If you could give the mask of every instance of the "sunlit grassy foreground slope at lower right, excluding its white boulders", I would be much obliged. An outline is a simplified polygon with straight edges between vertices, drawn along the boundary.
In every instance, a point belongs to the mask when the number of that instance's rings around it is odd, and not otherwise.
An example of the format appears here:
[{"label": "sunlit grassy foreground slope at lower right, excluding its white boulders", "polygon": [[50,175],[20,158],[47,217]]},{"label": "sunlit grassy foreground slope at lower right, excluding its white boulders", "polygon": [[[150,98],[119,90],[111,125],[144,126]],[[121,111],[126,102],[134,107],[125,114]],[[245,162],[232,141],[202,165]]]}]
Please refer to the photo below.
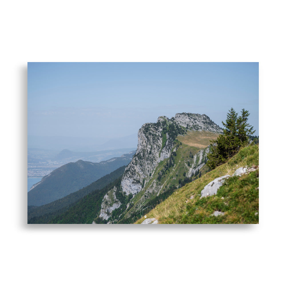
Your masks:
[{"label": "sunlit grassy foreground slope at lower right, excluding its white boulders", "polygon": [[[258,223],[259,217],[255,215],[259,212],[258,170],[231,178],[216,196],[200,199],[201,190],[210,181],[232,175],[239,167],[258,164],[259,146],[243,148],[227,163],[176,190],[146,215],[158,219],[159,223]],[[215,210],[223,211],[225,215],[211,216]],[[136,223],[143,220],[144,217]]]}]

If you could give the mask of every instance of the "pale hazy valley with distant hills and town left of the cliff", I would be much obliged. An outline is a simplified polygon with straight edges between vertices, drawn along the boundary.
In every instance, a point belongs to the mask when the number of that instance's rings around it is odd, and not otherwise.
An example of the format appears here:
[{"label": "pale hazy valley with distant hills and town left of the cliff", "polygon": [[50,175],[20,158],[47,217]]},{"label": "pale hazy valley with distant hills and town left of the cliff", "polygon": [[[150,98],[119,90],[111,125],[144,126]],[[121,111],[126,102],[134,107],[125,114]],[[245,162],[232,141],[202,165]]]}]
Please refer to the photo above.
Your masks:
[{"label": "pale hazy valley with distant hills and town left of the cliff", "polygon": [[28,143],[27,175],[41,178],[69,162],[101,162],[120,157],[136,150],[137,140],[137,134],[119,138],[32,136]]}]

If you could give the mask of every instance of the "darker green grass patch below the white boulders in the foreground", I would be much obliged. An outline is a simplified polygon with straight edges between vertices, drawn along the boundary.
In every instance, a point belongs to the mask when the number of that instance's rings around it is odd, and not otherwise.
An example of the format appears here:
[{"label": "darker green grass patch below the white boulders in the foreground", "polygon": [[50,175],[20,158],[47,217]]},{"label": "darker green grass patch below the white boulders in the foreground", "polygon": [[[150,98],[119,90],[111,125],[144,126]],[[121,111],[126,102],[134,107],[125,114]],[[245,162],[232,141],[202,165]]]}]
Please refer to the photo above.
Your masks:
[{"label": "darker green grass patch below the white boulders in the foreground", "polygon": [[[258,223],[259,171],[226,180],[216,196],[197,199],[186,205],[178,223]],[[224,215],[212,216],[215,211]]]}]

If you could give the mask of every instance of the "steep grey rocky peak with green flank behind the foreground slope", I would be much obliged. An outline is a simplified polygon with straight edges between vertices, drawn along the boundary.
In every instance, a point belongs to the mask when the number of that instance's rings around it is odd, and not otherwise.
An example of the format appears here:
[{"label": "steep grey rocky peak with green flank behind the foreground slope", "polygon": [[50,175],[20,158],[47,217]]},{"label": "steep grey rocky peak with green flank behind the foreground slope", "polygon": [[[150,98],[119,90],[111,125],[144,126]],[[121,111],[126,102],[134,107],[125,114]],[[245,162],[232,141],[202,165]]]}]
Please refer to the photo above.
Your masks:
[{"label": "steep grey rocky peak with green flank behind the foreground slope", "polygon": [[[205,114],[191,113],[176,114],[171,119],[160,116],[156,123],[144,124],[138,131],[136,154],[126,167],[121,189],[110,190],[103,199],[100,220],[131,223],[143,208],[156,205],[180,185],[200,176],[199,170],[204,168],[209,152],[206,145],[209,140],[196,137],[199,143],[196,146],[187,137],[187,144],[182,143],[182,138],[194,132],[204,138],[210,136],[210,140],[222,133],[222,129]],[[203,172],[206,171],[205,168]],[[121,204],[109,201],[115,200],[115,192],[122,194]]]}]

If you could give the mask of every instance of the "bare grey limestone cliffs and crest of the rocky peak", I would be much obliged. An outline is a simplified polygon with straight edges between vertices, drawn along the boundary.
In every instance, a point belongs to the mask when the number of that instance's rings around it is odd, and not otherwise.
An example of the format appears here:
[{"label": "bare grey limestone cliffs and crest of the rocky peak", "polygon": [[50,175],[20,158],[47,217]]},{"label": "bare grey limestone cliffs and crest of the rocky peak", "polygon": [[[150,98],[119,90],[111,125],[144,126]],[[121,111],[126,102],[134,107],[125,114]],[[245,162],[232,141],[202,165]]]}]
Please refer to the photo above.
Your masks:
[{"label": "bare grey limestone cliffs and crest of the rocky peak", "polygon": [[[157,164],[169,158],[174,147],[174,139],[188,130],[206,130],[222,133],[222,129],[205,114],[177,113],[168,119],[160,116],[156,123],[146,123],[138,131],[138,147],[132,161],[126,167],[122,178],[122,191],[136,194],[142,189],[142,182],[150,176]],[[194,164],[188,175],[194,174],[203,160],[207,150],[201,150],[194,157]]]}]

